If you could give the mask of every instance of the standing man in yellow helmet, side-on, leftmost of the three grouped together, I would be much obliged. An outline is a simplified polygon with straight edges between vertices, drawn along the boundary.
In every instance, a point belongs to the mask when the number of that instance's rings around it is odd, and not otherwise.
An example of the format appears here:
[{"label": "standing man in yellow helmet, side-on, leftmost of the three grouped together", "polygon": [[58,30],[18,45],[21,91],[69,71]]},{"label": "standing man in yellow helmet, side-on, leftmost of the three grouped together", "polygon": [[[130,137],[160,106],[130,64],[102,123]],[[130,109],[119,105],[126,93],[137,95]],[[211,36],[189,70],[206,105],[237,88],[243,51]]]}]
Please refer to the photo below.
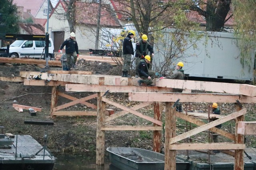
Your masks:
[{"label": "standing man in yellow helmet, side-on, leftmost of the three grouped together", "polygon": [[123,68],[122,68],[122,77],[132,77],[128,74],[128,71],[130,70],[131,67],[131,61],[132,61],[132,56],[134,55],[134,50],[132,46],[132,38],[135,35],[135,31],[130,30],[128,31],[127,37],[124,38],[123,42],[123,57],[124,57],[124,63],[123,63]]}]

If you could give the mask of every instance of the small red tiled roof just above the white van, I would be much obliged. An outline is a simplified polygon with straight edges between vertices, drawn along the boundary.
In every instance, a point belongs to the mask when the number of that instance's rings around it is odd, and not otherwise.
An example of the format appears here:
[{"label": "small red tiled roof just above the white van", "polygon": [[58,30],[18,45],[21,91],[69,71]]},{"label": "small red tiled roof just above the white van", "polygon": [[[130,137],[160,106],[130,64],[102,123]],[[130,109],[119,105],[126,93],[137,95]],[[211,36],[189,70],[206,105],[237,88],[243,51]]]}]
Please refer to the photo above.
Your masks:
[{"label": "small red tiled roof just above the white van", "polygon": [[24,29],[27,34],[44,35],[44,27],[41,24],[35,23],[19,23],[20,27]]}]

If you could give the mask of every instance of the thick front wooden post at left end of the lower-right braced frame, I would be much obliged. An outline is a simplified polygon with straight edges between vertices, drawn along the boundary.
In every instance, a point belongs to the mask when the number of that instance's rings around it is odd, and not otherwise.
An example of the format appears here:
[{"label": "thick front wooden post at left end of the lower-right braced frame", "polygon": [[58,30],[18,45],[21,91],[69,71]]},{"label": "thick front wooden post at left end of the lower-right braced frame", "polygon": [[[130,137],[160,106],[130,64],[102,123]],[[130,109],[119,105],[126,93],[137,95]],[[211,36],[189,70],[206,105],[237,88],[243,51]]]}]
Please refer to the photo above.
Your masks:
[{"label": "thick front wooden post at left end of the lower-right braced frame", "polygon": [[170,150],[170,139],[176,136],[175,109],[172,109],[174,102],[166,102],[165,106],[165,165],[164,170],[176,170],[176,150]]}]

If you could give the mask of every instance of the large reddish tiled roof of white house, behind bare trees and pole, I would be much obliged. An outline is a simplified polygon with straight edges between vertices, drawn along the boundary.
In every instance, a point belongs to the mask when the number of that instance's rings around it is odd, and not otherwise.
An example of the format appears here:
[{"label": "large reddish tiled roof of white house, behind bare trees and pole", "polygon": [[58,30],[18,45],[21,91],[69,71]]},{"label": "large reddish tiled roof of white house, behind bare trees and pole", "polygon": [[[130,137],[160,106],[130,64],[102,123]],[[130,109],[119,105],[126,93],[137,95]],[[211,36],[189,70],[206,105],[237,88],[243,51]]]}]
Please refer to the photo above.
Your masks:
[{"label": "large reddish tiled roof of white house, behind bare trees and pole", "polygon": [[[85,25],[97,25],[97,13],[99,4],[97,3],[76,3],[76,22]],[[110,5],[102,6],[100,25],[103,27],[121,27],[116,15],[111,14]]]}]

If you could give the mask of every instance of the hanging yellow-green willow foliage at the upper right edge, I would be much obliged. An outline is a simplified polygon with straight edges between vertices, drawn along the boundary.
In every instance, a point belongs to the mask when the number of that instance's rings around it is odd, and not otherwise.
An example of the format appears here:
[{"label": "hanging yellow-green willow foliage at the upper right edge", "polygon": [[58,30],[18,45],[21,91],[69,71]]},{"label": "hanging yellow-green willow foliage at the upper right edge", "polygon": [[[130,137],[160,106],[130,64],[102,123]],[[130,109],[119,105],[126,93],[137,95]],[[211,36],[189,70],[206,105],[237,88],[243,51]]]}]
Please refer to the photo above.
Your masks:
[{"label": "hanging yellow-green willow foliage at the upper right edge", "polygon": [[255,0],[233,0],[235,27],[234,33],[238,38],[238,46],[241,49],[240,62],[242,66],[250,68],[252,64],[252,51],[256,47],[256,1]]}]

